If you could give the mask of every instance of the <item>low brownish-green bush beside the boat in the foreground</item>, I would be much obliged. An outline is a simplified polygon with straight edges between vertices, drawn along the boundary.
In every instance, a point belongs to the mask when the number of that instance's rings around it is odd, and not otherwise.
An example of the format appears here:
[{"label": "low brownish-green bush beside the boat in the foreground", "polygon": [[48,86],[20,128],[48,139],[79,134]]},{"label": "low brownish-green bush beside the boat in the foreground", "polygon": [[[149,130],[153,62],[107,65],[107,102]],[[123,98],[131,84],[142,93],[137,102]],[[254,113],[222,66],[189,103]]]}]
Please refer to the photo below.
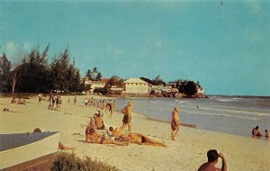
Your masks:
[{"label": "low brownish-green bush beside the boat in the foreground", "polygon": [[98,161],[96,159],[93,160],[91,157],[81,159],[80,157],[76,157],[75,154],[65,152],[58,153],[51,170],[119,171],[119,169],[115,166],[109,166],[107,163]]}]

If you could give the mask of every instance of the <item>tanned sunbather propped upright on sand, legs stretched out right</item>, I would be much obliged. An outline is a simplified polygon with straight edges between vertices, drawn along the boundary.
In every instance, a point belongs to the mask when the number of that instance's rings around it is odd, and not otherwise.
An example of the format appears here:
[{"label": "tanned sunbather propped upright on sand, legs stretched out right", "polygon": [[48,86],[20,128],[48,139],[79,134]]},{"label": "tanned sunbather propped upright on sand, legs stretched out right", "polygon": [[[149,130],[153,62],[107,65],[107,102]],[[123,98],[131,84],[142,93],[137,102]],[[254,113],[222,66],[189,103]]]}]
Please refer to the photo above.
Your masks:
[{"label": "tanned sunbather propped upright on sand, legs stretched out right", "polygon": [[117,146],[128,146],[129,142],[117,142],[101,136],[94,128],[89,125],[85,130],[85,142],[96,144],[115,144]]}]

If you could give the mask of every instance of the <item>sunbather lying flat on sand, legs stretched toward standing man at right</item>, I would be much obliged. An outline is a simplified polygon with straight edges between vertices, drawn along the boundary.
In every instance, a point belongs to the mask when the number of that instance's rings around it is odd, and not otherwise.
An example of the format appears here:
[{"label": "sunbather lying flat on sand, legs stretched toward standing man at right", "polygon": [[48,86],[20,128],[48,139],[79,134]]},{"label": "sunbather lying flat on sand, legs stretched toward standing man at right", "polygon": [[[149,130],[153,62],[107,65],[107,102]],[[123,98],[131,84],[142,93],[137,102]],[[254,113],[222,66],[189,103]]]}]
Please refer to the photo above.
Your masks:
[{"label": "sunbather lying flat on sand, legs stretched toward standing man at right", "polygon": [[125,137],[124,140],[130,143],[138,144],[138,145],[151,145],[151,146],[166,147],[164,143],[157,140],[150,139],[148,138],[148,136],[143,135],[141,133],[129,133],[129,136]]}]

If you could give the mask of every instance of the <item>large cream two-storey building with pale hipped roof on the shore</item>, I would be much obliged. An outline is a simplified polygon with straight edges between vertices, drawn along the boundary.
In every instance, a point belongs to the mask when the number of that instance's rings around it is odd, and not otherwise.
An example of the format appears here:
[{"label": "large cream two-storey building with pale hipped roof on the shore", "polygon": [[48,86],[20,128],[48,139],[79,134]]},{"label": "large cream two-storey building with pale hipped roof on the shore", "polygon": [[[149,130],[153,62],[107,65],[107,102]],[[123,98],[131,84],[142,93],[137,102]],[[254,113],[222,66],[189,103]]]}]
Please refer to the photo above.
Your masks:
[{"label": "large cream two-storey building with pale hipped roof on the shore", "polygon": [[130,78],[123,82],[125,94],[148,94],[148,82]]}]

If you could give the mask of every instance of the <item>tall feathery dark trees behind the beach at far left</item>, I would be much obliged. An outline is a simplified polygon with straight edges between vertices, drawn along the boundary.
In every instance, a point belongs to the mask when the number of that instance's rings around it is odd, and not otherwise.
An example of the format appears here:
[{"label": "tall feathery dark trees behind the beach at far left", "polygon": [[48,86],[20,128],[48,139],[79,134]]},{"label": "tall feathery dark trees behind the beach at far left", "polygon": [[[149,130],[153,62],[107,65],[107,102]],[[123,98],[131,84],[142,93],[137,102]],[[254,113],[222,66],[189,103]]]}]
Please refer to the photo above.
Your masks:
[{"label": "tall feathery dark trees behind the beach at far left", "polygon": [[[14,64],[3,53],[0,58],[0,85],[3,93],[48,93],[82,92],[85,85],[81,81],[80,71],[75,59],[71,60],[68,47],[48,61],[49,44],[40,51],[39,47],[30,52],[17,54]],[[93,73],[93,74],[92,74]],[[94,67],[87,75],[102,76]],[[93,78],[93,77],[92,77]]]}]

